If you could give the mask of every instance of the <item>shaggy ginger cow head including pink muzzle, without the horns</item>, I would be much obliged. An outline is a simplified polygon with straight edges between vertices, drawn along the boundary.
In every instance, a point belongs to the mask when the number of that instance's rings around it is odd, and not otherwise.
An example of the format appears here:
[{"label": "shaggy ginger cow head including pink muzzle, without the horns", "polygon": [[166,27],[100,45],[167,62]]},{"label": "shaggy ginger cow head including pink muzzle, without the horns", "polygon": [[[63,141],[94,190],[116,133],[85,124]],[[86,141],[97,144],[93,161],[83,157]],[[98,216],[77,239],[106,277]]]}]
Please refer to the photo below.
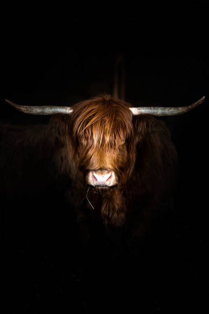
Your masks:
[{"label": "shaggy ginger cow head including pink muzzle, without the horns", "polygon": [[126,181],[134,167],[134,128],[129,105],[110,96],[73,107],[69,129],[78,168],[95,188]]}]

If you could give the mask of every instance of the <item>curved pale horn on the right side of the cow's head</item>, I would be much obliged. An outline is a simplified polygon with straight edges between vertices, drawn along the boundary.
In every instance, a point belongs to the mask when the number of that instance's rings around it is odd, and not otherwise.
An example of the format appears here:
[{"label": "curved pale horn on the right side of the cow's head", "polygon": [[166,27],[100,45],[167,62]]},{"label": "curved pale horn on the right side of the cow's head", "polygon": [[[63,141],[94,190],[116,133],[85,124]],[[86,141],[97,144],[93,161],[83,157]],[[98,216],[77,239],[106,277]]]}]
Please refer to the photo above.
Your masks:
[{"label": "curved pale horn on the right side of the cow's head", "polygon": [[200,98],[196,103],[190,105],[190,106],[184,106],[184,107],[133,107],[129,108],[133,115],[136,114],[152,114],[152,115],[177,115],[177,114],[183,114],[186,113],[198,105],[200,105],[205,99],[205,96]]}]

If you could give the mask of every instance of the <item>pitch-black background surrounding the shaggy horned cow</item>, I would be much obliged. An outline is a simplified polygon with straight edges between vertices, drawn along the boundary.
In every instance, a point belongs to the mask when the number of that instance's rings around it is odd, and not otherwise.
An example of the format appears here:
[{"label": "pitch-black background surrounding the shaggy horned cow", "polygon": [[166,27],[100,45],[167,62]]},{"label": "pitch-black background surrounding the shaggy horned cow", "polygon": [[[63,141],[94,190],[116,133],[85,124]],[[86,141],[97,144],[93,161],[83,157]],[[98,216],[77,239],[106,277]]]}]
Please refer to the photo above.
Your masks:
[{"label": "pitch-black background surrounding the shaggy horned cow", "polygon": [[99,241],[83,248],[60,195],[53,212],[47,200],[22,212],[16,204],[9,213],[3,203],[3,312],[203,312],[209,291],[207,3],[148,3],[135,14],[116,15],[101,14],[102,5],[84,16],[53,9],[4,11],[1,123],[49,121],[19,113],[4,99],[72,105],[112,93],[118,54],[133,106],[184,106],[206,98],[185,115],[163,118],[179,155],[177,216],[164,220],[165,235],[158,232],[141,258],[123,252],[113,259]]}]

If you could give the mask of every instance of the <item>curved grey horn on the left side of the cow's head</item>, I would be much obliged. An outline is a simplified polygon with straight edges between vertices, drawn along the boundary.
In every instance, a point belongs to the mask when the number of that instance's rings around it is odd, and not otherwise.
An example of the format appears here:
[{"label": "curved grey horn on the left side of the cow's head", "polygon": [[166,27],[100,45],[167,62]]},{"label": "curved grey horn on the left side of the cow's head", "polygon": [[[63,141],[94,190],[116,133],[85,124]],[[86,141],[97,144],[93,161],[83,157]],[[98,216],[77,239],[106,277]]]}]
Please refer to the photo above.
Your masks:
[{"label": "curved grey horn on the left side of the cow's head", "polygon": [[22,111],[24,113],[29,114],[37,114],[37,115],[50,115],[50,114],[56,114],[56,113],[64,113],[64,114],[70,114],[73,112],[73,109],[71,107],[64,107],[64,106],[22,106],[17,105],[9,100],[5,99],[5,101],[10,104],[15,109]]}]

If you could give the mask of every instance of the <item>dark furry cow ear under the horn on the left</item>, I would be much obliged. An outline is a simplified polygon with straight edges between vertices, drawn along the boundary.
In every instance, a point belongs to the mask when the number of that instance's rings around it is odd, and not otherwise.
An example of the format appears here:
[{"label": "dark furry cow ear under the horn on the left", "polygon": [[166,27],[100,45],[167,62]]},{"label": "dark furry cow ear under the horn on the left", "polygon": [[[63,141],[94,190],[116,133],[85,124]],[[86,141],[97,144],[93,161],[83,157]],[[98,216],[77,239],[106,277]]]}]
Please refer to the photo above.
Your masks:
[{"label": "dark furry cow ear under the horn on the left", "polygon": [[51,117],[49,127],[59,138],[64,139],[69,135],[70,116],[66,114],[55,114]]}]

